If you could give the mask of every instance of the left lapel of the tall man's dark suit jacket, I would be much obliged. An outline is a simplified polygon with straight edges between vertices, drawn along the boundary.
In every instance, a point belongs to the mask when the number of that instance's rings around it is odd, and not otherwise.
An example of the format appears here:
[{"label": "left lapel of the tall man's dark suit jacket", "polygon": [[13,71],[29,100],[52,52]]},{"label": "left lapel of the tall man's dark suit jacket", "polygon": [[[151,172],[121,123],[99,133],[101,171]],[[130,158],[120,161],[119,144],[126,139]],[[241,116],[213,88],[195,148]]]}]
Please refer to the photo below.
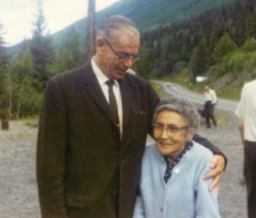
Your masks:
[{"label": "left lapel of the tall man's dark suit jacket", "polygon": [[114,123],[109,104],[107,103],[102,88],[100,88],[99,82],[90,64],[86,65],[83,83],[85,84],[85,91],[92,97],[103,113]]}]

